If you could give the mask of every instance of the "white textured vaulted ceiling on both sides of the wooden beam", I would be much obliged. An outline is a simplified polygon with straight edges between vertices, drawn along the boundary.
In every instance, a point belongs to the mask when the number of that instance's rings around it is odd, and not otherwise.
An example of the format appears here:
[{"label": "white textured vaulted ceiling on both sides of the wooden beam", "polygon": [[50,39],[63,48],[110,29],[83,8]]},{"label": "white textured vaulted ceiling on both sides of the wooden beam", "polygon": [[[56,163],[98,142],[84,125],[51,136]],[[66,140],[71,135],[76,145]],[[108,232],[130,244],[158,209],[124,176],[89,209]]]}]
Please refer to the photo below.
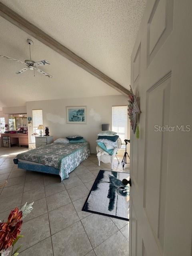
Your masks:
[{"label": "white textured vaulted ceiling on both sides of the wooden beam", "polygon": [[[130,56],[145,0],[1,0],[8,7],[93,66],[129,89]],[[0,17],[0,54],[48,60],[42,70],[53,75],[15,74],[24,66],[0,58],[0,107],[32,100],[117,95],[119,92]]]}]

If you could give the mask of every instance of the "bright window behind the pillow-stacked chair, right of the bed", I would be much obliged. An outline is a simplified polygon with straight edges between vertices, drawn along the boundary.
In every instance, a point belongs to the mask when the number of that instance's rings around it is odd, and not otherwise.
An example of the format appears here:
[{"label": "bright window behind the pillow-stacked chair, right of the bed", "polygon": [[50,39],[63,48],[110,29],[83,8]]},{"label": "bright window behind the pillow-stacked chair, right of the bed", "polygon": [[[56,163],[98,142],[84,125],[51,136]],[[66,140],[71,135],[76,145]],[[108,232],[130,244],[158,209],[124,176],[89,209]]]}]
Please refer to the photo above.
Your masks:
[{"label": "bright window behind the pillow-stacked chair, right of the bed", "polygon": [[122,143],[127,139],[127,106],[112,107],[112,131],[117,132]]}]

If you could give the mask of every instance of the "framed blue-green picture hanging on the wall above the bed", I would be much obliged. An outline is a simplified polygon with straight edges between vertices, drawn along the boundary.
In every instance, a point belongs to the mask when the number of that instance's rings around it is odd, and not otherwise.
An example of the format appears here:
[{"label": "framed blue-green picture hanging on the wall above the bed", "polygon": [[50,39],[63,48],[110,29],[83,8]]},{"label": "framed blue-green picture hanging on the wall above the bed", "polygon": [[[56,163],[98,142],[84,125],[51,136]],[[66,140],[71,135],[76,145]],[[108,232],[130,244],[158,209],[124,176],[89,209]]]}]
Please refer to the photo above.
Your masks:
[{"label": "framed blue-green picture hanging on the wall above the bed", "polygon": [[67,124],[86,124],[86,106],[67,106]]}]

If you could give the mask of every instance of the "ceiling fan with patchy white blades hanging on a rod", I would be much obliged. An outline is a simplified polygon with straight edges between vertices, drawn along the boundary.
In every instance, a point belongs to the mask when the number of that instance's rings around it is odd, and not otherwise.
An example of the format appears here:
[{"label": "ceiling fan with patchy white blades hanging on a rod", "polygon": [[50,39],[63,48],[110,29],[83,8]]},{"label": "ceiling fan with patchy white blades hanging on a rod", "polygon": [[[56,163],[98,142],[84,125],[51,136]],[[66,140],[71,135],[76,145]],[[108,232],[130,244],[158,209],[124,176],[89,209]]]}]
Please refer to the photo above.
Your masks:
[{"label": "ceiling fan with patchy white blades hanging on a rod", "polygon": [[50,64],[47,60],[40,60],[38,62],[34,62],[33,60],[31,60],[31,48],[30,46],[33,45],[33,41],[30,39],[27,39],[27,43],[29,44],[29,52],[30,52],[30,60],[25,60],[24,62],[21,60],[16,60],[13,58],[10,58],[8,56],[4,56],[4,55],[0,55],[0,57],[9,59],[9,60],[15,60],[17,62],[20,62],[21,64],[25,64],[27,67],[26,68],[22,68],[21,70],[17,71],[16,74],[22,74],[23,72],[27,71],[27,70],[34,70],[34,76],[35,76],[35,70],[38,71],[40,74],[43,74],[44,76],[48,76],[49,78],[52,78],[52,76],[46,72],[44,72],[43,70],[39,69],[39,66],[44,66],[47,64]]}]

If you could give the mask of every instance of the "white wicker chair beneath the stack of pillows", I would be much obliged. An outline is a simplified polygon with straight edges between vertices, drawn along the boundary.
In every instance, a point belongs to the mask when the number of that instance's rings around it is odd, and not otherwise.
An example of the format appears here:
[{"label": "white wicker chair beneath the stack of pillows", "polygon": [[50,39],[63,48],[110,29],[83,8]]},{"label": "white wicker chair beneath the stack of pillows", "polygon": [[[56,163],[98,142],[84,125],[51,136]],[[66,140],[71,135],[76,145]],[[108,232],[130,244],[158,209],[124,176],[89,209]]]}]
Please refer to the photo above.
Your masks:
[{"label": "white wicker chair beneath the stack of pillows", "polygon": [[[114,148],[112,155],[108,154],[107,152],[102,150],[102,148],[100,148],[97,145],[96,150],[97,150],[97,158],[98,158],[98,161],[99,161],[99,166],[100,166],[100,161],[102,161],[105,164],[110,163],[111,164],[111,168],[113,168],[114,158],[115,157],[117,158],[116,153],[121,148],[121,139],[118,138],[117,142],[118,142],[118,146],[117,146],[117,148]],[[101,152],[101,154],[98,154],[99,152]],[[117,158],[117,160],[118,160],[118,158]],[[118,160],[118,163],[119,163],[119,160]]]}]

